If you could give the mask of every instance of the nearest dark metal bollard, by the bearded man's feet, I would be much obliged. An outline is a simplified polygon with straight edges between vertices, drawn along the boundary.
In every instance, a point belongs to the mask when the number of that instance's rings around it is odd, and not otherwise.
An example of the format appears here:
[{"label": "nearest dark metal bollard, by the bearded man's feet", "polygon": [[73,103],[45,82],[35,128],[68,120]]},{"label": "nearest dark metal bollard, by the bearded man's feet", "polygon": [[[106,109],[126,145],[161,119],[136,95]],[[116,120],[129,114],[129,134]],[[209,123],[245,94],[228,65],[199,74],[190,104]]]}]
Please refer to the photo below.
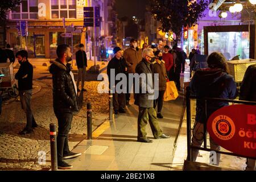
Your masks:
[{"label": "nearest dark metal bollard, by the bearded man's feet", "polygon": [[50,125],[50,142],[51,142],[51,169],[57,171],[57,137],[56,137],[56,124],[51,123]]}]

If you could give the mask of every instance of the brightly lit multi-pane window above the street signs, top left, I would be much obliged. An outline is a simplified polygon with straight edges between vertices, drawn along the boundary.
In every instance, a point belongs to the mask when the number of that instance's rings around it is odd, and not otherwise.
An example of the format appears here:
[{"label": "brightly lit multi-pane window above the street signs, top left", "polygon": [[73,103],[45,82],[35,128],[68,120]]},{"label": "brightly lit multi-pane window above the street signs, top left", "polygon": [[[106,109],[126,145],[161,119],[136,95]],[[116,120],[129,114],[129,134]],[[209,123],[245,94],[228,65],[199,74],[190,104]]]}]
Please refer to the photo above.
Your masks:
[{"label": "brightly lit multi-pane window above the street signs, top left", "polygon": [[76,18],[76,0],[51,0],[51,19],[61,18]]}]

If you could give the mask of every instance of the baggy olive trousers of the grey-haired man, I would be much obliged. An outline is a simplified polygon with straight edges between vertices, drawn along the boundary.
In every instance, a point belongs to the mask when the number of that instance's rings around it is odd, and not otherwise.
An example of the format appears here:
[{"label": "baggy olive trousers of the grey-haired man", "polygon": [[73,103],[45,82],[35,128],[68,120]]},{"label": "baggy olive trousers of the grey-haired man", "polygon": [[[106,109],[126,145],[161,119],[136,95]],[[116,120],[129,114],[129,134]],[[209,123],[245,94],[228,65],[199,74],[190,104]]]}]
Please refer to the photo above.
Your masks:
[{"label": "baggy olive trousers of the grey-haired man", "polygon": [[156,112],[154,107],[145,108],[139,107],[138,115],[138,139],[147,138],[147,121],[150,123],[152,133],[155,138],[160,137],[163,134],[163,131],[160,129],[158,124],[158,118],[156,117]]}]

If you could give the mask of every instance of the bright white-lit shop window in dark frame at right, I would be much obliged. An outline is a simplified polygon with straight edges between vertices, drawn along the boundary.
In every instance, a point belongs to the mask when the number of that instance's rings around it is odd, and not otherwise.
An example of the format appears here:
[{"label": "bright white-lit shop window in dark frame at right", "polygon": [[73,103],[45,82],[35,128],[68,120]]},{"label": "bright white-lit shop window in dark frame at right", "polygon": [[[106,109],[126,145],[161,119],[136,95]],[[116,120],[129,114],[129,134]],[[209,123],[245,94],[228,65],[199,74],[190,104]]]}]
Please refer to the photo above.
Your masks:
[{"label": "bright white-lit shop window in dark frame at right", "polygon": [[218,51],[226,60],[239,55],[240,59],[249,58],[249,32],[208,32],[208,53]]}]

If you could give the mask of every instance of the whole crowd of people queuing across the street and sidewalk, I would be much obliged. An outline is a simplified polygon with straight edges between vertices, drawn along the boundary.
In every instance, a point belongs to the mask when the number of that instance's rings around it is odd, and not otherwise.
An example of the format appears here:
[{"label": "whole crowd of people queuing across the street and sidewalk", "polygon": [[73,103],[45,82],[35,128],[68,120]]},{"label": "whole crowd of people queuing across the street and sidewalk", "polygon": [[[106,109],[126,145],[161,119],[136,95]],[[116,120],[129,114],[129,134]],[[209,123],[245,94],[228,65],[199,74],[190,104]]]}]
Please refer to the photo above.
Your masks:
[{"label": "whole crowd of people queuing across the street and sidewalk", "polygon": [[[67,44],[61,44],[57,47],[57,59],[51,61],[49,72],[52,74],[53,83],[53,110],[57,118],[59,125],[57,134],[57,163],[60,169],[70,169],[72,166],[64,161],[64,159],[75,158],[81,153],[74,153],[69,150],[68,147],[68,133],[71,129],[71,123],[73,113],[80,110],[79,102],[77,99],[78,92],[86,92],[85,76],[87,67],[87,58],[84,51],[84,45],[79,45],[80,49],[76,52],[76,63],[78,68],[78,78],[75,82],[75,78],[71,71],[72,60],[71,48]],[[10,46],[7,45],[7,48]],[[13,63],[15,57],[13,52],[0,50],[2,55],[7,55],[10,61]],[[114,57],[109,61],[107,67],[107,73],[109,80],[112,78],[110,74],[114,69],[115,75],[119,73],[125,74],[127,77],[129,74],[148,74],[152,77],[147,77],[147,92],[134,94],[134,104],[139,107],[138,114],[138,142],[151,143],[152,140],[147,138],[146,127],[147,123],[150,123],[152,133],[155,139],[170,138],[170,136],[163,133],[160,129],[158,119],[163,118],[163,96],[166,91],[166,82],[174,81],[177,90],[180,90],[180,74],[185,71],[185,60],[187,54],[174,45],[171,49],[169,46],[164,46],[163,50],[158,50],[154,46],[148,46],[143,44],[142,49],[138,48],[136,39],[131,39],[130,47],[124,52],[120,47],[115,47]],[[196,49],[192,49],[189,53],[189,61],[193,60],[193,57],[199,54]],[[28,61],[27,51],[19,51],[16,53],[16,58],[20,64],[18,72],[15,74],[16,80],[18,80],[18,89],[20,102],[24,113],[26,113],[27,124],[20,135],[26,135],[33,131],[37,127],[34,115],[31,109],[31,96],[32,96],[32,78],[33,67]],[[238,90],[234,78],[229,75],[229,70],[226,64],[226,58],[222,53],[213,52],[207,58],[208,68],[198,69],[191,77],[189,86],[191,86],[192,94],[196,97],[214,97],[224,99],[235,99],[238,96]],[[154,88],[153,74],[159,75],[159,86]],[[129,84],[127,79],[126,93],[113,93],[113,108],[114,114],[126,113],[126,106],[130,105],[131,97],[131,83]],[[81,90],[79,89],[81,81]],[[119,80],[115,80],[113,85],[109,84],[109,89],[114,90]],[[133,80],[134,84],[134,80]],[[243,78],[240,100],[256,101],[256,65],[251,65]],[[142,81],[139,81],[139,90],[142,90]],[[134,87],[134,86],[133,86]],[[216,89],[218,88],[218,89]],[[159,92],[159,96],[154,100],[148,99],[154,95],[155,90]],[[133,92],[134,93],[134,92]],[[215,101],[211,102],[205,111],[204,103],[197,100],[196,102],[196,118],[193,126],[192,145],[200,147],[204,140],[204,123],[208,118],[205,116],[207,112],[208,116],[221,107],[227,106],[228,103]],[[220,146],[210,138],[210,148],[212,150],[220,150]],[[192,150],[193,161],[196,160],[199,150]],[[217,154],[217,165],[220,162],[220,154]],[[247,169],[255,168],[255,160],[247,159]]]}]

